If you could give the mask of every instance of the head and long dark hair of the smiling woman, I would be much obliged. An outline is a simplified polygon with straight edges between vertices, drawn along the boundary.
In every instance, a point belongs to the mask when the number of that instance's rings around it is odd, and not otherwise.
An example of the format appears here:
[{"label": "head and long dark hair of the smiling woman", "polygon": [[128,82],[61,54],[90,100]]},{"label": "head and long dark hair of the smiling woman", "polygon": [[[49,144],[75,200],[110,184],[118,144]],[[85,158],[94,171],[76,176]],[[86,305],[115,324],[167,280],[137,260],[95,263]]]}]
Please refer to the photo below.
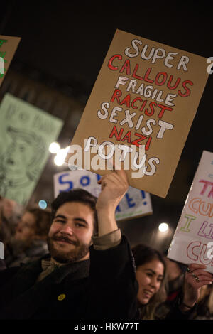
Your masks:
[{"label": "head and long dark hair of the smiling woman", "polygon": [[132,248],[138,281],[138,304],[142,319],[155,318],[155,309],[166,298],[165,261],[156,249],[143,244]]}]

